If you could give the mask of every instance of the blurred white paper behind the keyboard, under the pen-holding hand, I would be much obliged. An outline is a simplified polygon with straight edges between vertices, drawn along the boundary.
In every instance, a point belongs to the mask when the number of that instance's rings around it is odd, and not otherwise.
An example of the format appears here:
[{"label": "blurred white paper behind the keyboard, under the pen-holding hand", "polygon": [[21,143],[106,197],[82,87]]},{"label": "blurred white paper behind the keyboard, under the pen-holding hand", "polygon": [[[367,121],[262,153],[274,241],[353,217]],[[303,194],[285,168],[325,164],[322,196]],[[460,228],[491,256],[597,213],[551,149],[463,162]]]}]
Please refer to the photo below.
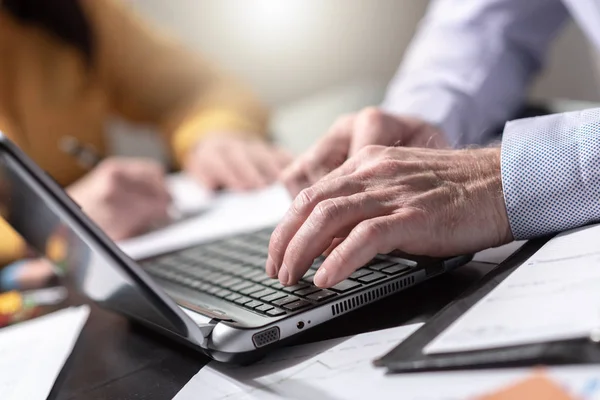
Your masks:
[{"label": "blurred white paper behind the keyboard, under the pen-holding hand", "polygon": [[[174,204],[182,209],[203,210],[162,229],[121,241],[119,245],[130,257],[142,259],[225,236],[252,232],[274,226],[285,215],[291,199],[282,185],[266,189],[214,196],[206,194],[191,181],[175,180]],[[189,199],[185,199],[188,196]],[[200,197],[194,203],[194,196]]]}]

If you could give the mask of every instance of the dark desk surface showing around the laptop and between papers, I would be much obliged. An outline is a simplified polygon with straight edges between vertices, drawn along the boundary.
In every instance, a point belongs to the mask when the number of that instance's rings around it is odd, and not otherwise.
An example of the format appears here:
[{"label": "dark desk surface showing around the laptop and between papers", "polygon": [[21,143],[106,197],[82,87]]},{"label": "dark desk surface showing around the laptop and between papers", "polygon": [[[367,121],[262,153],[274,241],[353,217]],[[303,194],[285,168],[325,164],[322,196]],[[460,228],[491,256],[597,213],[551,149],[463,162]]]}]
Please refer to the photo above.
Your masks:
[{"label": "dark desk surface showing around the laptop and between papers", "polygon": [[[494,267],[470,263],[307,331],[300,342],[426,321]],[[81,304],[72,294],[70,304]],[[208,362],[125,318],[91,305],[90,318],[50,399],[171,399]],[[375,355],[374,355],[375,356]]]}]

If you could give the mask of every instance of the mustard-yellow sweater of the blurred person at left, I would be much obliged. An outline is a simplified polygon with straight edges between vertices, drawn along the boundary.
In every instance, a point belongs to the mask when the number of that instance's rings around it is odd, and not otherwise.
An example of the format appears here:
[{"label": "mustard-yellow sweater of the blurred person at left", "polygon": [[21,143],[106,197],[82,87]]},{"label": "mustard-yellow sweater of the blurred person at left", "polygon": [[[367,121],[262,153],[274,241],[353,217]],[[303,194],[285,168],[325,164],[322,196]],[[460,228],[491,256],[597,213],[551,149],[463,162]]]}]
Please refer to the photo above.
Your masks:
[{"label": "mustard-yellow sweater of the blurred person at left", "polygon": [[[94,38],[85,65],[73,47],[0,11],[0,129],[58,182],[86,171],[59,149],[65,136],[100,154],[119,115],[155,125],[175,160],[209,131],[264,134],[267,113],[239,83],[146,26],[119,0],[81,0]],[[0,262],[25,246],[0,220]]]}]

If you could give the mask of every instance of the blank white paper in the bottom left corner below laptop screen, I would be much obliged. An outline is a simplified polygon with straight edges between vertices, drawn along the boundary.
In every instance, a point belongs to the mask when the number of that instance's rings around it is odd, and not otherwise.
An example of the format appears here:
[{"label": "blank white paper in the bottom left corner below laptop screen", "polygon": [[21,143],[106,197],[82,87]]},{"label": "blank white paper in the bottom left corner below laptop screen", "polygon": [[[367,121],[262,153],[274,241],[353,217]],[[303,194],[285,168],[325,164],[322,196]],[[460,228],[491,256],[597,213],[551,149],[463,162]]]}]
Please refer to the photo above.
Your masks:
[{"label": "blank white paper in the bottom left corner below laptop screen", "polygon": [[0,330],[0,398],[44,400],[85,325],[88,306]]}]

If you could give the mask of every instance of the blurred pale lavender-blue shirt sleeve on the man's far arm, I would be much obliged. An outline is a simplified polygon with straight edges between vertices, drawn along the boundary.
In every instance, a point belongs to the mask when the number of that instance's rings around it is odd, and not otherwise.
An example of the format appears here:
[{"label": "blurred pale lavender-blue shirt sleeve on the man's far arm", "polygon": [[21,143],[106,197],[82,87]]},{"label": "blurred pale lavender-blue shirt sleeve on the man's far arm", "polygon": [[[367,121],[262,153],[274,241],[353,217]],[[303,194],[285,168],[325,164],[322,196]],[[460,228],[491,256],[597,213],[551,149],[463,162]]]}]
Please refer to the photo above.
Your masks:
[{"label": "blurred pale lavender-blue shirt sleeve on the man's far arm", "polygon": [[569,13],[560,0],[434,0],[382,108],[484,144],[523,103]]}]

